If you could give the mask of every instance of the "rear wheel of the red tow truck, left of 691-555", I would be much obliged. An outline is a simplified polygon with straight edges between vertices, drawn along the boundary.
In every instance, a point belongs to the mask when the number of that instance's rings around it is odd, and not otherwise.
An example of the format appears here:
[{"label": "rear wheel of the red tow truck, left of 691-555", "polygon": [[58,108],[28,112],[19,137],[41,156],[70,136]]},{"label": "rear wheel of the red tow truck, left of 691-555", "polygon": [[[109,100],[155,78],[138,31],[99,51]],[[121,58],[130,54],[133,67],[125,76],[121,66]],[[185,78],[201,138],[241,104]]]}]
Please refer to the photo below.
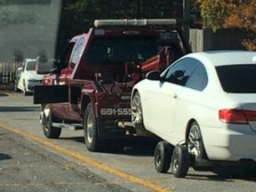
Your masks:
[{"label": "rear wheel of the red tow truck, left of 691-555", "polygon": [[84,113],[84,142],[89,151],[100,151],[100,139],[97,130],[97,119],[92,112],[92,104],[88,104]]}]

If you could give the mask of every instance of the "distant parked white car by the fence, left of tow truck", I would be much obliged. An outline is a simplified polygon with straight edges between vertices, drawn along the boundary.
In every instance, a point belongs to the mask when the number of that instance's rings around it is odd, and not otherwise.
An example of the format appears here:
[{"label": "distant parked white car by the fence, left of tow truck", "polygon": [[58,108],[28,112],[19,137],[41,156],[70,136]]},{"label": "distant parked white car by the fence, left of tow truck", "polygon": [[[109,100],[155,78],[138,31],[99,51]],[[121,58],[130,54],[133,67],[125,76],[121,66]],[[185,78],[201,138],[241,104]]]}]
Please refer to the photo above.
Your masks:
[{"label": "distant parked white car by the fence, left of tow truck", "polygon": [[17,88],[28,95],[34,92],[36,85],[43,84],[43,75],[36,74],[36,59],[25,59],[22,63],[20,79]]}]

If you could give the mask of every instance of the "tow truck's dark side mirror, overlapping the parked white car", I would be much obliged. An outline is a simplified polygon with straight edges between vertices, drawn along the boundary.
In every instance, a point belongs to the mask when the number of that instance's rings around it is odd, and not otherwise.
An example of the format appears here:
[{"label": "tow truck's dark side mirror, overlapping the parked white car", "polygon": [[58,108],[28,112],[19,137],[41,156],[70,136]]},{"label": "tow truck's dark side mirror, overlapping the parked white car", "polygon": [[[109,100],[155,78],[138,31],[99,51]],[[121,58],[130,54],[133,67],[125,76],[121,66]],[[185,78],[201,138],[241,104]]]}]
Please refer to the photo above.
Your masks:
[{"label": "tow truck's dark side mirror, overlapping the parked white car", "polygon": [[51,60],[44,60],[43,58],[37,57],[36,58],[36,73],[37,74],[50,74],[54,73],[56,70],[58,61],[51,59]]}]

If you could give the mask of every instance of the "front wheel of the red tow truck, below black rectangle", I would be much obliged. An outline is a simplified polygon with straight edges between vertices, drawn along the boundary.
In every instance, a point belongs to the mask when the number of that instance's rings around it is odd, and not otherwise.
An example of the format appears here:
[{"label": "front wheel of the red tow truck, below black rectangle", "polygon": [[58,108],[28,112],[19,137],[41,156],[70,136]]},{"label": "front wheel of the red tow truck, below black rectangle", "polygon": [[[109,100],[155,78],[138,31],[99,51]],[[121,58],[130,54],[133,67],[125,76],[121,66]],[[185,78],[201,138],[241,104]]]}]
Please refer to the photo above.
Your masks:
[{"label": "front wheel of the red tow truck, below black rectangle", "polygon": [[52,115],[51,109],[49,106],[46,106],[43,110],[43,131],[44,136],[49,139],[58,139],[60,137],[61,129],[59,127],[52,126]]}]

